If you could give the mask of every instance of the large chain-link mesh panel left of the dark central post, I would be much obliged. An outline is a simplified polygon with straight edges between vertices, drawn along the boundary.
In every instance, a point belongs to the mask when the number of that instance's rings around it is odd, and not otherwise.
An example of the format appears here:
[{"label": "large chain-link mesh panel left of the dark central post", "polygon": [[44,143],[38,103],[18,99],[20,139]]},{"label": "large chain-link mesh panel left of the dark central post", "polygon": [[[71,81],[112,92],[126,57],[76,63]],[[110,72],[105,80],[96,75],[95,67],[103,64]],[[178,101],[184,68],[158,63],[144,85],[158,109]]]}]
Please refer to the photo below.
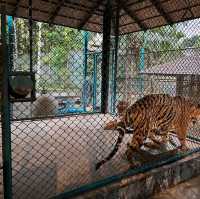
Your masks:
[{"label": "large chain-link mesh panel left of the dark central post", "polygon": [[[28,22],[14,24],[12,71],[26,71]],[[20,199],[96,181],[97,148],[109,142],[103,125],[112,118],[98,113],[102,34],[34,23],[33,35],[36,101],[12,103],[12,191]]]}]

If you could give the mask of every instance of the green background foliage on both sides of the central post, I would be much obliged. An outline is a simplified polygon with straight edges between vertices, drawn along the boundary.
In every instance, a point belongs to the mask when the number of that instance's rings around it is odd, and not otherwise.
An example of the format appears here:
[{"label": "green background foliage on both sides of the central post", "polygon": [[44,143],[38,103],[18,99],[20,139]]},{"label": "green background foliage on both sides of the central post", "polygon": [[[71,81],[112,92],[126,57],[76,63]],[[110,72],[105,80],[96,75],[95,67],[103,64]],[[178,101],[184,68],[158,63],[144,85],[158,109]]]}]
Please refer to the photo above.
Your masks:
[{"label": "green background foliage on both sides of the central post", "polygon": [[[145,67],[164,63],[169,61],[169,58],[181,56],[183,54],[181,49],[200,46],[198,33],[189,37],[184,31],[188,25],[190,25],[190,22],[184,22],[181,26],[165,26],[148,30],[145,33],[139,32],[120,36],[119,59],[126,59],[127,64],[131,65],[132,71],[137,71],[142,47],[145,49]],[[17,68],[26,69],[29,63],[28,21],[16,19],[14,32],[16,65]],[[83,32],[62,26],[49,26],[45,23],[34,22],[33,34],[33,60],[35,69],[40,76],[37,79],[38,87],[53,90],[77,88],[77,80],[74,77],[83,76],[84,67]],[[90,33],[89,42],[95,39],[102,40],[100,38],[102,35],[98,35],[98,37],[97,34]],[[130,49],[132,49],[131,53],[134,55],[132,57],[135,60],[134,63],[129,61]],[[132,58],[130,57],[130,59]],[[125,76],[125,66],[121,68],[119,76]],[[88,59],[88,74],[90,76],[92,70],[93,58],[90,56]],[[82,79],[80,78],[79,81],[82,81]],[[61,84],[61,82],[64,82],[64,84]]]}]

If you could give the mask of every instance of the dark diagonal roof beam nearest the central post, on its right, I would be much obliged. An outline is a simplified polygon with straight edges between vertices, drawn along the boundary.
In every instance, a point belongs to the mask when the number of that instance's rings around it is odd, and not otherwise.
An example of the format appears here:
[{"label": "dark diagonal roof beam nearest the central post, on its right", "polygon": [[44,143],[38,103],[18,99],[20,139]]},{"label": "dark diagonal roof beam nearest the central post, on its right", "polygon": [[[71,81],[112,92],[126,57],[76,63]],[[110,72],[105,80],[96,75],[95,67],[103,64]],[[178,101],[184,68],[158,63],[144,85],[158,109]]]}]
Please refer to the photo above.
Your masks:
[{"label": "dark diagonal roof beam nearest the central post, on its right", "polygon": [[126,6],[125,1],[120,1],[119,6],[138,24],[142,30],[147,30],[147,26],[140,21],[137,15],[135,15],[133,11],[128,8],[128,6]]}]

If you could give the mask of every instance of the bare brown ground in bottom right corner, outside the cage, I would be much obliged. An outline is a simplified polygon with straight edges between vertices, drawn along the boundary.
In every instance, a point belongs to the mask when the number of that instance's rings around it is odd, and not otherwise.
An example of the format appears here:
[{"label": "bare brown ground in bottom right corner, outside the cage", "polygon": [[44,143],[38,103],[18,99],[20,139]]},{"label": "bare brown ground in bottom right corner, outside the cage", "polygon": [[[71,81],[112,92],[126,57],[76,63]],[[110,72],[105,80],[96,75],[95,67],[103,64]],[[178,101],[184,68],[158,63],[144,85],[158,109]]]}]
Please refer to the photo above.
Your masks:
[{"label": "bare brown ground in bottom right corner, outside the cage", "polygon": [[199,199],[200,176],[158,193],[150,199]]}]

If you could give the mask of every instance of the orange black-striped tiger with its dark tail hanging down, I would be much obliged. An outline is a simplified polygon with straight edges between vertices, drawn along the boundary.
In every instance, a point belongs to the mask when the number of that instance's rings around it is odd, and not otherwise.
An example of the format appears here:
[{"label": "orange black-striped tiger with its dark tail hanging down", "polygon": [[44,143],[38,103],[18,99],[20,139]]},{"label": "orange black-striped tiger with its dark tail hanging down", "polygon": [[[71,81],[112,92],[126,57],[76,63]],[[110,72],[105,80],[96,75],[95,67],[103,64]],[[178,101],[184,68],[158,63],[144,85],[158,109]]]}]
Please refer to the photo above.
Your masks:
[{"label": "orange black-striped tiger with its dark tail hanging down", "polygon": [[[114,149],[96,164],[96,170],[117,153],[129,129],[133,130],[133,136],[131,142],[127,143],[126,156],[131,166],[134,166],[132,160],[134,152],[139,151],[148,137],[156,142],[156,135],[166,137],[168,132],[173,132],[180,142],[178,148],[185,151],[188,127],[191,122],[199,119],[200,105],[195,105],[184,97],[173,97],[168,94],[146,95],[125,109],[116,124],[119,136]],[[164,141],[166,142],[166,139]]]}]

